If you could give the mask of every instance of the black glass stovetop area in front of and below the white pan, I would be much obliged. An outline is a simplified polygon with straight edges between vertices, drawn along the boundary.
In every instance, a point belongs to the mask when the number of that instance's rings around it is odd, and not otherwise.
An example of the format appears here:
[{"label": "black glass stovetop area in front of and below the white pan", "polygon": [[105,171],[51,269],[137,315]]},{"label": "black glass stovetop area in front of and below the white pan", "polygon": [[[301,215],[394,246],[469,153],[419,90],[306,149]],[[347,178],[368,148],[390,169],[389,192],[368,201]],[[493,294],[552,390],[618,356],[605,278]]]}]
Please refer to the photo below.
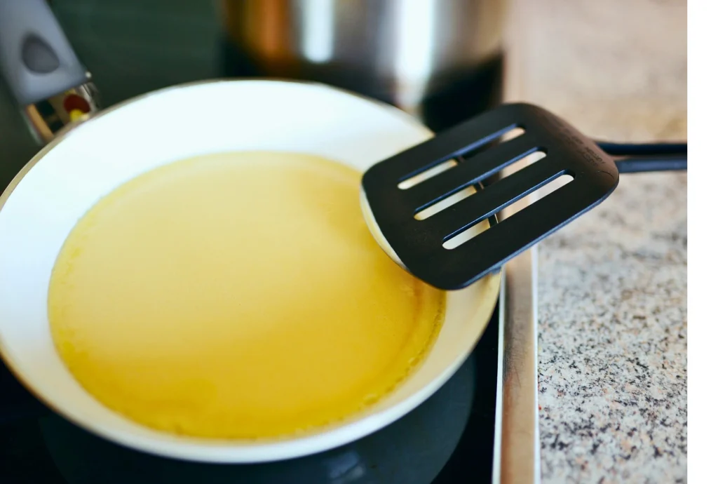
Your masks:
[{"label": "black glass stovetop area in front of and below the white pan", "polygon": [[335,450],[261,465],[181,462],[115,445],[29,403],[32,397],[0,366],[0,482],[490,483],[498,328],[495,311],[460,370],[404,418]]}]

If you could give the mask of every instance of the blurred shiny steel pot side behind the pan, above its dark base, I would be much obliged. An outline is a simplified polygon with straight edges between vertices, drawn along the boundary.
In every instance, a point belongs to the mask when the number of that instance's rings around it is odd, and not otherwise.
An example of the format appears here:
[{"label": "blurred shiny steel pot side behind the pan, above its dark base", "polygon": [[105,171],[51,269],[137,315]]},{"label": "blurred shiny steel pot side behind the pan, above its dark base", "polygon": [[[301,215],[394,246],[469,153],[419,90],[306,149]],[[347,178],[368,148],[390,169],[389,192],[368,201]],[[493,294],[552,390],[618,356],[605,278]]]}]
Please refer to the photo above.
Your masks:
[{"label": "blurred shiny steel pot side behind the pan, above its dark base", "polygon": [[261,74],[339,85],[416,111],[500,52],[504,0],[223,0]]}]

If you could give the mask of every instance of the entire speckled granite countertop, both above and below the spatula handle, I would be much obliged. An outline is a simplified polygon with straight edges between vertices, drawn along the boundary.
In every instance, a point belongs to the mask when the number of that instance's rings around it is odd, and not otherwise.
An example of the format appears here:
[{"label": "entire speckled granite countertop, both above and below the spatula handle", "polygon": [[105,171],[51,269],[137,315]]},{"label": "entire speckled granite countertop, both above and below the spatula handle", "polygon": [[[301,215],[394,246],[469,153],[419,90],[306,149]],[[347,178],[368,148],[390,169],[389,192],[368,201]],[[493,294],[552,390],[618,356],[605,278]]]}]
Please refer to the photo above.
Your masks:
[{"label": "entire speckled granite countertop, both above and below the spatula handle", "polygon": [[[514,6],[512,98],[599,139],[686,139],[685,1]],[[545,483],[686,481],[686,194],[685,173],[625,174],[538,246]]]}]

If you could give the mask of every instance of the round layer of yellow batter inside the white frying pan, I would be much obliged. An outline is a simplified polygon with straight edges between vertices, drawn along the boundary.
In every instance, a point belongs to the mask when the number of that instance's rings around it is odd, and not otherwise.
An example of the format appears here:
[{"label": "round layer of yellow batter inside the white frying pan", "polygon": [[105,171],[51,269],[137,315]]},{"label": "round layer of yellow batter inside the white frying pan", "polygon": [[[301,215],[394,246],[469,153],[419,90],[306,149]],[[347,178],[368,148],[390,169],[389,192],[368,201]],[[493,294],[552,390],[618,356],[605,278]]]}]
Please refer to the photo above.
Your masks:
[{"label": "round layer of yellow batter inside the white frying pan", "polygon": [[336,422],[411,370],[444,294],[373,241],[360,173],[302,154],[168,164],[104,197],[50,281],[75,378],[136,422],[256,438]]}]

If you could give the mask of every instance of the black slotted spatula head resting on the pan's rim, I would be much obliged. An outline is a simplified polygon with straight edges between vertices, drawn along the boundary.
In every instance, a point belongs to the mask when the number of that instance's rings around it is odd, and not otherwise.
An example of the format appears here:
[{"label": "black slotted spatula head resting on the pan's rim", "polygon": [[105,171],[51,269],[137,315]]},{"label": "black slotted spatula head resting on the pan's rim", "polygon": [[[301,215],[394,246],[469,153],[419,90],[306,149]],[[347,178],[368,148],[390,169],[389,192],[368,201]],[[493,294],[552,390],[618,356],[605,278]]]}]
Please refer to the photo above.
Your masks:
[{"label": "black slotted spatula head resting on the pan's rim", "polygon": [[[502,136],[522,129],[508,141]],[[417,214],[530,154],[528,164],[419,220]],[[454,167],[413,186],[407,180],[449,160]],[[561,175],[572,181],[455,248],[444,243]],[[507,104],[375,164],[362,180],[375,237],[412,274],[439,289],[462,289],[605,200],[618,184],[612,157],[561,118],[526,103]],[[401,186],[400,186],[401,185]]]}]

